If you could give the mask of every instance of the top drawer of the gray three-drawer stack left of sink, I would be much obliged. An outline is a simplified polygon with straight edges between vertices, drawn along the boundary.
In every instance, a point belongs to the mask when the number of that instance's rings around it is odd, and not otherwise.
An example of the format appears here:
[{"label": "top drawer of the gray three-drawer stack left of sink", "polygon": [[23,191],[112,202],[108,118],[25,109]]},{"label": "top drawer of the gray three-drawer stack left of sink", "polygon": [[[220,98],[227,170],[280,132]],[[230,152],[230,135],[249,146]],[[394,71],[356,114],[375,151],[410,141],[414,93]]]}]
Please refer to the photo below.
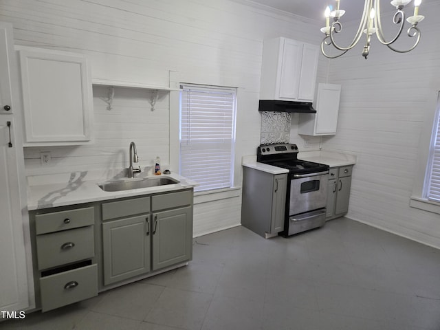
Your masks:
[{"label": "top drawer of the gray three-drawer stack left of sink", "polygon": [[93,207],[36,214],[35,216],[35,230],[37,235],[84,227],[86,225],[93,225],[94,223]]}]

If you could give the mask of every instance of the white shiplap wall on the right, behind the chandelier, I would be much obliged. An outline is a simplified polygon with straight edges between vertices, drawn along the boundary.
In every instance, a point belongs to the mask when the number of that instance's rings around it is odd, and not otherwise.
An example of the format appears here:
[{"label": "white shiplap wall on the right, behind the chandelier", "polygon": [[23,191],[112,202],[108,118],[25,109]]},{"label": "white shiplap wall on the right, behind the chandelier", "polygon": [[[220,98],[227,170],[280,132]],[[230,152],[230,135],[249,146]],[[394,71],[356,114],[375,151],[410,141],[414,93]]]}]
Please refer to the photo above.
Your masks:
[{"label": "white shiplap wall on the right, behind the chandelier", "polygon": [[422,4],[420,14],[426,19],[412,52],[373,40],[367,60],[360,45],[331,61],[330,80],[342,84],[342,94],[338,133],[324,137],[323,148],[358,155],[349,217],[440,248],[439,214],[409,206],[419,137],[432,125],[423,120],[440,90],[440,1]]}]

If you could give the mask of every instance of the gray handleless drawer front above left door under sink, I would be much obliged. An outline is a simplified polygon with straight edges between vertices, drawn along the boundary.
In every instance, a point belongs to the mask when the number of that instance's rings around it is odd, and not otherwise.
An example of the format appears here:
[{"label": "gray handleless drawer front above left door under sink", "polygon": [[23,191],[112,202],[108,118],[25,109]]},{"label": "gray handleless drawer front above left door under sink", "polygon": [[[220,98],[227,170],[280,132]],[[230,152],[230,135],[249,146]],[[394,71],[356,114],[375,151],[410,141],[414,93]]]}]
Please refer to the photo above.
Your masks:
[{"label": "gray handleless drawer front above left door under sink", "polygon": [[125,199],[102,204],[102,220],[150,212],[150,197]]}]

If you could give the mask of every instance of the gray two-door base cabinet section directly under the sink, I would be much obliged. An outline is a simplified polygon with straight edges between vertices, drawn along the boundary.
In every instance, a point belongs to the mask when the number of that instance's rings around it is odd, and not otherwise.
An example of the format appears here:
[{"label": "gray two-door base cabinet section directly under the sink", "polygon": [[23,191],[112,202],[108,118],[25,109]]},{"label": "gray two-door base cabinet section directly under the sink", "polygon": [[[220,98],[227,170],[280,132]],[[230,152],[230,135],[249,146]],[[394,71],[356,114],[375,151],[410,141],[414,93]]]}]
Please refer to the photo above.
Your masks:
[{"label": "gray two-door base cabinet section directly under the sink", "polygon": [[102,203],[104,286],[192,259],[192,189]]}]

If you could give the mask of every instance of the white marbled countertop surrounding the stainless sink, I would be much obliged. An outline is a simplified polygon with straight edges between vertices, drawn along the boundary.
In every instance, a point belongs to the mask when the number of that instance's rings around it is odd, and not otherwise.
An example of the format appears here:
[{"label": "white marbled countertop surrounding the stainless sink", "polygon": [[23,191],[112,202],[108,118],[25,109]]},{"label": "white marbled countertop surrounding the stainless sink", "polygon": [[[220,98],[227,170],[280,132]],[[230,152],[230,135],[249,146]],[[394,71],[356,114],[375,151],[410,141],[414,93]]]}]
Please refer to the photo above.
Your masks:
[{"label": "white marbled countertop surrounding the stainless sink", "polygon": [[[142,173],[141,173],[142,174]],[[104,201],[122,197],[132,197],[137,195],[148,195],[157,192],[181,190],[197,186],[197,182],[180,175],[170,174],[161,175],[171,177],[179,181],[178,184],[166,184],[148,188],[139,188],[121,191],[104,191],[98,184],[107,181],[108,173],[98,173],[97,171],[83,171],[74,173],[62,173],[54,175],[34,175],[28,179],[28,210],[41,208],[54,208],[57,206],[67,206],[79,203],[89,203],[93,201]],[[156,175],[142,176],[137,175],[134,180],[145,177],[157,177]],[[126,177],[114,177],[118,180],[133,180]]]}]

